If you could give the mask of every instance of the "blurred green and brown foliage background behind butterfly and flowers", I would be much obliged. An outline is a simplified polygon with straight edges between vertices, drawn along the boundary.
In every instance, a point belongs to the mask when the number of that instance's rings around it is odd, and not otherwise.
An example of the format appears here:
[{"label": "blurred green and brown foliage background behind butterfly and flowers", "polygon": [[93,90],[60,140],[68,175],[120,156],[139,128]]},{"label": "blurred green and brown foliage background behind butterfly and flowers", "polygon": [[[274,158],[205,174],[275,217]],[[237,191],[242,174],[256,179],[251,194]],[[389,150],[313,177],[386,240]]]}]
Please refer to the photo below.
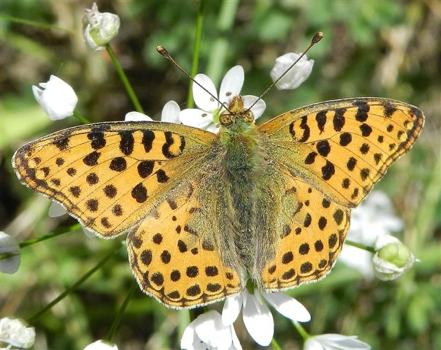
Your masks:
[{"label": "blurred green and brown foliage background behind butterfly and flowers", "polygon": [[[25,141],[76,125],[50,122],[31,85],[55,74],[79,96],[77,110],[91,121],[123,119],[133,110],[105,51],[90,52],[81,33],[89,1],[0,2],[0,229],[25,240],[43,236],[72,218],[47,216],[50,200],[19,185],[10,158]],[[188,81],[156,53],[163,45],[190,70],[198,1],[100,1],[101,12],[121,18],[112,47],[150,116],[174,99],[185,105]],[[48,29],[10,17],[57,25]],[[60,29],[61,28],[61,29]],[[358,335],[373,349],[441,349],[441,10],[425,1],[205,1],[198,72],[214,81],[233,65],[245,68],[244,94],[271,83],[277,56],[303,50],[321,30],[308,56],[314,70],[298,90],[265,96],[269,119],[294,107],[354,96],[384,96],[418,105],[426,125],[413,150],[376,187],[387,192],[406,223],[402,240],[421,262],[399,280],[367,281],[337,264],[328,278],[290,294],[309,309],[310,333]],[[2,275],[1,317],[28,318],[72,285],[113,241],[71,232],[23,248],[16,274]],[[34,320],[35,349],[82,349],[105,338],[130,285],[125,249],[77,291]],[[218,307],[218,305],[216,305]],[[300,336],[275,315],[283,349],[301,348]],[[136,292],[116,331],[119,349],[176,349],[185,311],[165,309]],[[236,325],[244,349],[258,348]]]}]

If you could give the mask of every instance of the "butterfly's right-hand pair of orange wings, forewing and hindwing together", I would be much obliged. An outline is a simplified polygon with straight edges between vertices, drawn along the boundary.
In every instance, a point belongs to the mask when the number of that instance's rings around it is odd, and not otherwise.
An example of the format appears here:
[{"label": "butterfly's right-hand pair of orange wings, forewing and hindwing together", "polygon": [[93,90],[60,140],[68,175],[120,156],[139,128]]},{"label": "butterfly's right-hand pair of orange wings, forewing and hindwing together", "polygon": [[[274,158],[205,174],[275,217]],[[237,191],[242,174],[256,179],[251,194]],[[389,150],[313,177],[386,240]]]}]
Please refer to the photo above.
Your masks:
[{"label": "butterfly's right-hand pair of orange wings, forewing and hindwing together", "polygon": [[284,179],[272,185],[283,196],[274,258],[260,267],[265,289],[294,287],[331,270],[349,228],[349,208],[409,150],[423,123],[416,107],[362,98],[309,105],[259,127]]}]

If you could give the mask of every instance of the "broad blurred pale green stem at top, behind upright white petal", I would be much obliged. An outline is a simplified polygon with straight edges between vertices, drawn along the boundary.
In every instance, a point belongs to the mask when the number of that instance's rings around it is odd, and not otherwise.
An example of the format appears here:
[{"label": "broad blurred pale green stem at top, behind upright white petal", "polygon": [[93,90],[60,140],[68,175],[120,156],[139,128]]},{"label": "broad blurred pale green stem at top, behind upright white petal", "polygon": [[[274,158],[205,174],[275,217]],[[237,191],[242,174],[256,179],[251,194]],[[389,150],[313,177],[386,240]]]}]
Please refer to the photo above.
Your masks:
[{"label": "broad blurred pale green stem at top, behind upright white petal", "polygon": [[227,53],[231,52],[230,42],[232,39],[230,36],[238,4],[238,0],[224,0],[220,7],[216,30],[221,36],[212,45],[207,67],[207,76],[212,79],[215,85],[218,85],[220,77],[224,73]]}]

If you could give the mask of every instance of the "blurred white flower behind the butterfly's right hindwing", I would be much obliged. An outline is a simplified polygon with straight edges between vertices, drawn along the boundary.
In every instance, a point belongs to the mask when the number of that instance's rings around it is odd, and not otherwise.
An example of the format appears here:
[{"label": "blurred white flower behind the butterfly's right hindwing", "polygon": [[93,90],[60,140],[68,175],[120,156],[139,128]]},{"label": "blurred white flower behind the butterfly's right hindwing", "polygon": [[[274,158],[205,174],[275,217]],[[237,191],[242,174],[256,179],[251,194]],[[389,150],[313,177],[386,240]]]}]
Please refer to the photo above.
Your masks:
[{"label": "blurred white flower behind the butterfly's right hindwing", "polygon": [[[372,246],[378,236],[389,235],[403,228],[402,220],[393,214],[389,197],[384,192],[375,191],[353,209],[347,239]],[[358,269],[367,279],[374,276],[369,251],[344,245],[339,260]]]}]

